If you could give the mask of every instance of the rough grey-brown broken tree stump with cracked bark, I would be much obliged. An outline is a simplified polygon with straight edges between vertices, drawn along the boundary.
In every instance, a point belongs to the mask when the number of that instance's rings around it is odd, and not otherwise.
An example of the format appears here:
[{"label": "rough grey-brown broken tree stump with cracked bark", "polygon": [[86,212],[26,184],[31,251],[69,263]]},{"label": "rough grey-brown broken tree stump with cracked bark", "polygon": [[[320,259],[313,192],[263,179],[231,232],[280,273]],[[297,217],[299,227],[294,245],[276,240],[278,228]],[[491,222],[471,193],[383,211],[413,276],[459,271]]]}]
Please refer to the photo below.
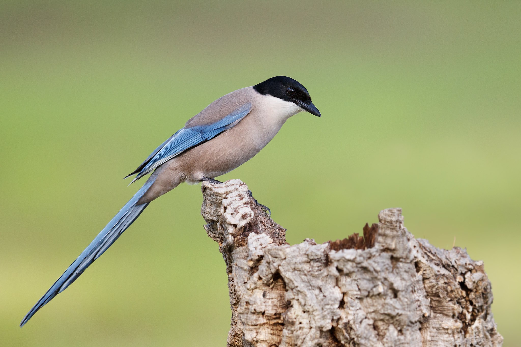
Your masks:
[{"label": "rough grey-brown broken tree stump with cracked bark", "polygon": [[228,346],[501,346],[483,263],[415,239],[401,209],[363,237],[290,246],[243,182],[202,190],[228,273]]}]

